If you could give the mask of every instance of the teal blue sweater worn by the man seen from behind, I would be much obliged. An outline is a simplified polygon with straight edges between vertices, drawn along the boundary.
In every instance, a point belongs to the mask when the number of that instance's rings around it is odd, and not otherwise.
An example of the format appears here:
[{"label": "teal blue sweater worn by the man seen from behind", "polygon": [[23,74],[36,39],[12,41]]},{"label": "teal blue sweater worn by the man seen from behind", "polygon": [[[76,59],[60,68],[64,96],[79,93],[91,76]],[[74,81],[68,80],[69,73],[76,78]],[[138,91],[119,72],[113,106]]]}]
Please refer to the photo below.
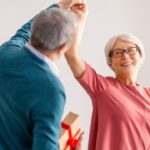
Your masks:
[{"label": "teal blue sweater worn by the man seen from behind", "polygon": [[59,149],[64,88],[24,46],[31,23],[0,47],[0,150]]}]

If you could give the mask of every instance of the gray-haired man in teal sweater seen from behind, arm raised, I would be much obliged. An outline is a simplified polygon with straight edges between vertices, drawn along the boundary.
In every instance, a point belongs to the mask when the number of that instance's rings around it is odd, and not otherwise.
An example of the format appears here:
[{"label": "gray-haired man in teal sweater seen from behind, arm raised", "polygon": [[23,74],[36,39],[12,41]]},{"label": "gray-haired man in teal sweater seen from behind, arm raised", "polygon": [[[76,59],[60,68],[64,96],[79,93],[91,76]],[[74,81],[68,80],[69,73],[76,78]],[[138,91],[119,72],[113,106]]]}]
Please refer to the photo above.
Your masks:
[{"label": "gray-haired man in teal sweater seen from behind, arm raised", "polygon": [[[65,3],[42,11],[0,47],[0,150],[59,149],[65,92],[54,62],[68,49],[79,11]],[[58,8],[64,6],[72,11]]]}]

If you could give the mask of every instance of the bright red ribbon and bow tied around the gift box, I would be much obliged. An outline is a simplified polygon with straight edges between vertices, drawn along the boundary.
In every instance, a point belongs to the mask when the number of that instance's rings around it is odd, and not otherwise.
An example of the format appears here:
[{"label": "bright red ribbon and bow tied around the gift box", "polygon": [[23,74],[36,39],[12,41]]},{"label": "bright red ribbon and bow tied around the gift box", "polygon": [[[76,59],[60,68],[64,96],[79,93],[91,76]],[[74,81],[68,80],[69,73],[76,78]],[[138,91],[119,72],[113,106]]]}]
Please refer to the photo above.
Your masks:
[{"label": "bright red ribbon and bow tied around the gift box", "polygon": [[69,125],[62,122],[61,126],[62,126],[62,128],[68,130],[68,135],[69,135],[69,139],[67,141],[67,145],[64,148],[64,150],[66,150],[68,148],[68,146],[70,146],[70,150],[74,150],[75,146],[77,145],[77,143],[79,141],[78,139],[75,139],[75,138],[80,133],[80,129],[75,133],[74,136],[72,136],[71,128]]}]

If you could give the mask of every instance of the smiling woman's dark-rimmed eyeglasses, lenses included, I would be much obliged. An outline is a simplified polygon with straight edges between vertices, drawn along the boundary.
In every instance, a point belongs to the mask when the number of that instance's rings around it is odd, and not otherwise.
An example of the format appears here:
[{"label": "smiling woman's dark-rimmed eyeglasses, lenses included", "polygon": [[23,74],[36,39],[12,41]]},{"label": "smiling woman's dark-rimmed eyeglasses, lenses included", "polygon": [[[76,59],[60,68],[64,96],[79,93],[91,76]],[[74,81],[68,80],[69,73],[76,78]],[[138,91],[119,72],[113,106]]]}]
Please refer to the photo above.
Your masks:
[{"label": "smiling woman's dark-rimmed eyeglasses, lenses included", "polygon": [[116,49],[112,50],[109,54],[110,57],[122,57],[124,53],[126,52],[128,55],[135,55],[138,51],[138,47],[129,47],[127,49]]}]

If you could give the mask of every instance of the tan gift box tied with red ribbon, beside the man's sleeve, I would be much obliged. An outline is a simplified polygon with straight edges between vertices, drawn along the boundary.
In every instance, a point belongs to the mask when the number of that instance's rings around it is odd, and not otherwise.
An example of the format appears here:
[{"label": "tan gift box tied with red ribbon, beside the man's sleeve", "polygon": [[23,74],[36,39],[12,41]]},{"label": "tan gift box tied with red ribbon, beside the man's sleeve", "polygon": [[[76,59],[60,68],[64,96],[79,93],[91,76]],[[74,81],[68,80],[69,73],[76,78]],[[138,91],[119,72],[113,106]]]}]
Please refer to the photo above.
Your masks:
[{"label": "tan gift box tied with red ribbon, beside the man's sleeve", "polygon": [[81,132],[79,115],[69,112],[62,121],[61,126],[59,137],[60,150],[74,150]]}]

